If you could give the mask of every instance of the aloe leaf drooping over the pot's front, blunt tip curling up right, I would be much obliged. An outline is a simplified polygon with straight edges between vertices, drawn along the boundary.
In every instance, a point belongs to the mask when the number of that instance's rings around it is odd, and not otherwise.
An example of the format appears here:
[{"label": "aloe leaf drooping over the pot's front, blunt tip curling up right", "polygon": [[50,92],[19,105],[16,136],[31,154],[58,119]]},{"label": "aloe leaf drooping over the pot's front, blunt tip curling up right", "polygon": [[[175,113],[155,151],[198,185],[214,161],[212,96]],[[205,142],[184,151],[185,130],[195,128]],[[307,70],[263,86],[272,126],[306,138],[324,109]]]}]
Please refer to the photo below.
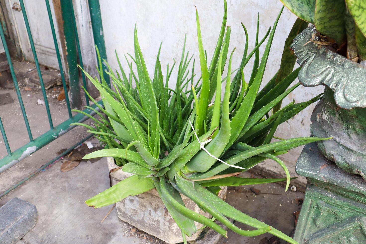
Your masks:
[{"label": "aloe leaf drooping over the pot's front, blunt tip curling up right", "polygon": [[[218,221],[220,221],[222,224],[227,226],[235,233],[238,233],[242,236],[258,236],[271,230],[270,226],[265,226],[264,228],[260,228],[257,230],[242,230],[238,228],[231,221],[225,218],[225,216],[220,212],[220,210],[216,209],[217,206],[210,203],[210,199],[206,198],[208,194],[212,196],[216,195],[207,191],[205,188],[201,187],[201,185],[195,182],[192,183],[191,181],[188,181],[178,175],[175,177],[175,179],[177,186],[179,187],[179,190],[182,191],[184,195],[193,200],[198,206],[203,207],[203,209],[205,209],[208,213],[210,213],[214,218],[216,218]],[[199,191],[197,191],[197,188],[199,189]],[[206,191],[206,193],[202,194],[202,192],[204,191]],[[223,200],[221,199],[221,201]]]}]

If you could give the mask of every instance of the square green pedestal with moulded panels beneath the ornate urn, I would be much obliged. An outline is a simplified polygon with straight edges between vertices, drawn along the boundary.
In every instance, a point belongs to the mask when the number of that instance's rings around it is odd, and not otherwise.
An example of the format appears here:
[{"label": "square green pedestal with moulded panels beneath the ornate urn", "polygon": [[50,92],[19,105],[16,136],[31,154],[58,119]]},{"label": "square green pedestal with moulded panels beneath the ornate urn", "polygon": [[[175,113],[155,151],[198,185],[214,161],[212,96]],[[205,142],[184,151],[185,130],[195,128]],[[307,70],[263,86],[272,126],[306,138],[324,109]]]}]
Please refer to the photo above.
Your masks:
[{"label": "square green pedestal with moulded panels beneath the ornate urn", "polygon": [[316,143],[300,154],[296,172],[305,176],[305,199],[294,239],[301,244],[366,243],[366,182],[346,173]]}]

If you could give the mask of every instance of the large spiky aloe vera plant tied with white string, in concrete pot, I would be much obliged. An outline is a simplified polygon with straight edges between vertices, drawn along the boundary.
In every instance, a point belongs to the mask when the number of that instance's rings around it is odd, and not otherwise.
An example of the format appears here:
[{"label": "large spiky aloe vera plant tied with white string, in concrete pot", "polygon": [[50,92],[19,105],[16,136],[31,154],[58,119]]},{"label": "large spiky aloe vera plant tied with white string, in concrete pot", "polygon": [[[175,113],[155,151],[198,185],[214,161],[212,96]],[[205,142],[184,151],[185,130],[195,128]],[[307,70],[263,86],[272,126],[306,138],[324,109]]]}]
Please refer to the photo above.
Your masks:
[{"label": "large spiky aloe vera plant tied with white string, in concrete pot", "polygon": [[[159,60],[160,46],[154,74],[150,75],[139,46],[136,28],[135,55],[130,55],[131,62],[126,57],[129,75],[117,55],[120,71],[113,71],[104,60],[109,68],[107,74],[111,77],[113,89],[103,80],[102,70],[99,70],[100,81],[84,71],[99,90],[104,103],[104,108],[96,103],[102,113],[98,113],[99,120],[93,118],[94,126],[84,126],[106,144],[106,149],[90,153],[84,159],[110,156],[115,158],[121,170],[134,174],[90,198],[86,204],[98,208],[156,188],[182,230],[183,240],[185,235],[191,236],[197,232],[194,222],[208,226],[225,237],[227,232],[212,219],[187,209],[180,194],[193,200],[201,209],[238,234],[257,236],[269,232],[290,243],[296,243],[272,226],[236,210],[216,195],[217,187],[220,186],[283,180],[287,180],[287,189],[290,174],[285,164],[276,156],[287,153],[294,147],[326,139],[302,137],[271,143],[279,124],[321,97],[319,95],[307,102],[291,102],[269,115],[275,105],[299,86],[297,83],[288,88],[297,76],[298,70],[295,70],[277,84],[274,82],[275,76],[269,85],[259,91],[280,14],[272,30],[269,29],[262,40],[258,38],[258,19],[256,46],[250,53],[247,52],[248,34],[242,25],[246,44],[242,62],[236,71],[231,68],[234,50],[229,53],[231,29],[226,25],[226,1],[219,38],[209,65],[196,10],[201,64],[199,78],[194,72],[195,60],[184,47],[179,65],[167,65],[164,77]],[[259,60],[258,48],[267,38],[265,51]],[[243,69],[253,55],[254,67],[251,79],[246,83]],[[223,77],[226,60],[227,75]],[[102,62],[100,58],[99,62]],[[173,67],[176,66],[176,87],[171,89],[168,81]],[[190,70],[188,67],[191,67]],[[225,87],[222,99],[221,83]],[[210,104],[213,98],[214,103]],[[94,101],[92,98],[91,100]],[[284,168],[285,179],[234,177],[267,158],[275,160]],[[227,218],[251,226],[254,230],[242,230]]]}]

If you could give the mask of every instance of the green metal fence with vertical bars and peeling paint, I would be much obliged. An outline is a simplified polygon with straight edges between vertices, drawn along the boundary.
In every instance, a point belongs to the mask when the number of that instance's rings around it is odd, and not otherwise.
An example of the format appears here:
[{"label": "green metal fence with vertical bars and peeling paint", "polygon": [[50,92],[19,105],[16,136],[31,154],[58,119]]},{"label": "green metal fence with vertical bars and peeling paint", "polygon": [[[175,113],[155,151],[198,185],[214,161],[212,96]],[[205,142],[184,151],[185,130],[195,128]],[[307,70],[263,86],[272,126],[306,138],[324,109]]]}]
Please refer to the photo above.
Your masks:
[{"label": "green metal fence with vertical bars and peeling paint", "polygon": [[[67,50],[66,60],[67,60],[67,66],[68,66],[68,80],[69,80],[69,87],[70,87],[70,93],[71,93],[71,102],[70,102],[70,99],[69,99],[68,93],[67,93],[66,79],[64,76],[64,69],[62,67],[59,46],[57,44],[57,37],[56,37],[55,26],[53,24],[53,19],[52,19],[52,14],[51,14],[51,7],[49,4],[49,0],[45,0],[45,2],[46,2],[46,8],[47,8],[45,11],[48,12],[48,17],[49,17],[51,30],[52,30],[53,41],[55,44],[56,56],[57,56],[57,60],[58,60],[58,64],[59,64],[61,80],[62,80],[62,85],[63,85],[63,89],[64,89],[64,93],[65,93],[65,100],[66,100],[66,106],[67,106],[69,118],[66,119],[64,122],[62,122],[61,124],[59,124],[55,127],[53,126],[52,116],[51,116],[51,112],[50,112],[49,105],[48,105],[48,98],[46,96],[44,82],[42,79],[42,72],[40,69],[40,64],[39,64],[38,58],[37,58],[37,52],[34,47],[34,42],[33,42],[32,34],[31,34],[31,30],[30,30],[30,23],[27,18],[27,13],[26,13],[24,2],[23,2],[23,0],[19,0],[21,11],[23,14],[23,19],[25,22],[25,26],[26,26],[26,30],[27,30],[27,34],[28,34],[28,38],[29,38],[29,43],[31,46],[31,50],[33,52],[34,63],[36,65],[38,77],[39,77],[40,84],[41,84],[41,90],[42,90],[42,95],[43,95],[43,98],[45,101],[45,108],[46,108],[46,112],[47,112],[50,129],[49,129],[49,131],[45,132],[44,134],[38,136],[37,138],[33,138],[32,131],[29,126],[29,121],[27,119],[26,109],[23,104],[22,95],[20,94],[18,80],[16,79],[14,67],[12,65],[8,45],[5,41],[5,35],[4,35],[5,26],[0,24],[1,41],[3,42],[3,46],[5,49],[5,55],[6,55],[8,64],[9,64],[10,73],[12,76],[12,80],[14,82],[16,95],[18,97],[20,109],[22,111],[24,123],[25,123],[26,129],[27,129],[27,134],[29,137],[29,142],[27,144],[20,147],[19,149],[12,151],[9,146],[6,132],[4,129],[4,125],[3,125],[3,122],[2,122],[1,116],[0,116],[0,132],[1,132],[1,135],[3,136],[4,144],[5,144],[5,147],[7,150],[7,155],[5,155],[5,157],[0,159],[0,173],[4,172],[4,170],[7,170],[8,168],[14,166],[22,159],[28,157],[35,151],[41,149],[48,143],[55,140],[56,138],[59,138],[61,135],[70,131],[72,128],[75,127],[75,126],[70,126],[71,123],[83,122],[88,119],[87,116],[84,116],[80,113],[78,113],[74,116],[71,113],[71,106],[79,107],[81,105],[81,95],[80,95],[80,88],[79,88],[79,70],[78,70],[77,64],[79,64],[81,67],[83,67],[82,53],[81,53],[80,44],[79,44],[79,37],[78,37],[78,31],[76,28],[76,21],[75,21],[75,15],[74,15],[74,8],[72,6],[72,0],[61,0],[60,1],[61,15],[62,15],[62,19],[63,19],[63,30],[64,30],[63,33],[64,33],[64,38],[65,38],[65,43],[66,43],[66,50]],[[93,30],[100,30],[102,28],[102,26],[101,26],[99,1],[98,0],[89,0],[88,4],[89,4],[89,9],[90,9],[92,28],[93,28]],[[100,31],[98,31],[98,33],[100,33]],[[100,34],[97,34],[97,35],[94,34],[94,38],[95,38],[94,42],[95,42],[96,46],[98,47],[98,49],[101,50],[103,58],[107,59],[107,57],[105,56],[105,45],[104,45],[103,36],[102,35],[100,36]],[[85,76],[84,76],[84,74],[82,74],[81,76],[82,76],[81,80],[82,80],[83,86],[87,89]],[[101,101],[99,103],[102,105]],[[89,99],[87,96],[86,96],[86,105],[89,106]],[[88,108],[88,109],[83,110],[83,112],[85,112],[89,115],[95,115],[96,112],[94,111],[94,109],[97,111],[99,109],[96,108],[96,105],[92,105],[91,107],[93,109]],[[87,138],[90,138],[90,137],[91,137],[91,135],[87,136]],[[74,147],[76,147],[81,142],[85,141],[87,138],[84,138],[79,143],[75,144],[73,147],[68,149],[68,151],[71,151]],[[44,169],[49,164],[52,164],[52,162],[54,162],[61,156],[62,155],[51,160],[47,164],[43,165],[40,169],[36,170],[35,172],[33,172],[32,174],[27,176],[25,179],[20,181],[18,184],[14,185],[12,188],[3,192],[3,194],[0,194],[0,198],[1,198],[1,196],[4,196],[8,192],[10,192],[12,189],[17,187],[18,185],[22,184],[25,180],[34,176],[34,174],[36,174],[40,170]]]}]

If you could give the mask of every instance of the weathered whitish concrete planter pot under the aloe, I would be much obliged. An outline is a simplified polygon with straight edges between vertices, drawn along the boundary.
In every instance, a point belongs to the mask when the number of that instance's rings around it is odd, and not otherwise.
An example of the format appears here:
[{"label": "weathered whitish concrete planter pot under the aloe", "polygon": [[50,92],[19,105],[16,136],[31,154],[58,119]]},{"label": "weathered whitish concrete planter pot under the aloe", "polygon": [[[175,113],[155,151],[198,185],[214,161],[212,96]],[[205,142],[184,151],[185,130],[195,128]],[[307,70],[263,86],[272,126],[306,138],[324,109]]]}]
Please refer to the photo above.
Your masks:
[{"label": "weathered whitish concrete planter pot under the aloe", "polygon": [[[112,157],[107,157],[107,164],[109,171],[118,167]],[[131,175],[131,173],[123,172],[122,170],[112,172],[112,184],[117,184]],[[221,199],[226,198],[226,192],[227,187],[222,187],[219,195]],[[182,195],[182,199],[186,207],[210,218],[210,215],[199,209],[192,200],[184,195]],[[120,219],[148,234],[156,236],[169,244],[183,242],[181,230],[168,213],[156,189],[137,196],[128,196],[126,199],[116,203],[116,209]],[[196,223],[196,226],[199,229],[203,225]],[[187,237],[187,241],[197,239],[200,233],[201,230],[192,237]]]}]

